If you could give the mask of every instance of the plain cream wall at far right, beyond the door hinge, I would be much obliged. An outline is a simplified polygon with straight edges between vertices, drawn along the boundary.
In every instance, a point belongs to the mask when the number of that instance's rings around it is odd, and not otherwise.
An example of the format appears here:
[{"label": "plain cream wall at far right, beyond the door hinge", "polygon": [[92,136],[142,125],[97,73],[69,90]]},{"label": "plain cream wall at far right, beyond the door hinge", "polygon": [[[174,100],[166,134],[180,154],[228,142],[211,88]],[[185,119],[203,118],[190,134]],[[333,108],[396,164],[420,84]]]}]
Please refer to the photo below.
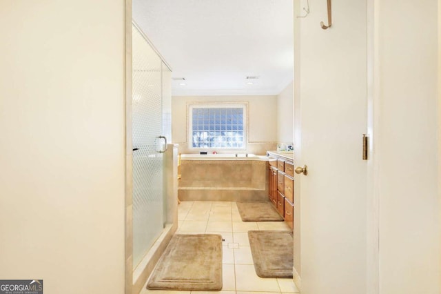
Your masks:
[{"label": "plain cream wall at far right, beyond the door hinge", "polygon": [[375,1],[380,293],[440,293],[438,1]]}]

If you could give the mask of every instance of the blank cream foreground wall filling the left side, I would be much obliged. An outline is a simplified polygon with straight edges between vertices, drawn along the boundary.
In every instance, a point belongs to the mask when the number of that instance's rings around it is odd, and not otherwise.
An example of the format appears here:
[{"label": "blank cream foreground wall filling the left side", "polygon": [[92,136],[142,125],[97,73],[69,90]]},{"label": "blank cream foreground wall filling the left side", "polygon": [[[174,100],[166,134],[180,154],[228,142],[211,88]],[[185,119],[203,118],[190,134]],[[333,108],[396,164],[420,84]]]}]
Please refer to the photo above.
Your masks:
[{"label": "blank cream foreground wall filling the left side", "polygon": [[124,14],[1,2],[1,279],[124,292]]}]

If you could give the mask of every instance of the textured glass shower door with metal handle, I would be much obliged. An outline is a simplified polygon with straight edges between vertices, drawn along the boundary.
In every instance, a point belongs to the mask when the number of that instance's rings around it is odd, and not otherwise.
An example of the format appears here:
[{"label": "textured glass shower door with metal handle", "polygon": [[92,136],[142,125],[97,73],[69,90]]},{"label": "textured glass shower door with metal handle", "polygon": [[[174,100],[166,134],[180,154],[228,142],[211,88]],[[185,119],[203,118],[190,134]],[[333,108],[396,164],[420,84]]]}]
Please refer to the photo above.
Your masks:
[{"label": "textured glass shower door with metal handle", "polygon": [[164,228],[161,58],[141,32],[132,33],[133,264]]}]

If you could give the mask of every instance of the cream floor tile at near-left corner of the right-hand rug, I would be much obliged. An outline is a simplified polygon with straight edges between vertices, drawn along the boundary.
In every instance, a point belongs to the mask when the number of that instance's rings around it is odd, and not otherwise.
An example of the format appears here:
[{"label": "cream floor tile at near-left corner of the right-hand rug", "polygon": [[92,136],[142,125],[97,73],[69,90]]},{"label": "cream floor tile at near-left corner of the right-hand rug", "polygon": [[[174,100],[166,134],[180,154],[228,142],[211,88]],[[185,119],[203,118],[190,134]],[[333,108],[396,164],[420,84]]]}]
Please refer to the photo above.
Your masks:
[{"label": "cream floor tile at near-left corner of the right-hand rug", "polygon": [[237,291],[279,292],[277,279],[262,278],[256,275],[254,265],[236,264]]}]

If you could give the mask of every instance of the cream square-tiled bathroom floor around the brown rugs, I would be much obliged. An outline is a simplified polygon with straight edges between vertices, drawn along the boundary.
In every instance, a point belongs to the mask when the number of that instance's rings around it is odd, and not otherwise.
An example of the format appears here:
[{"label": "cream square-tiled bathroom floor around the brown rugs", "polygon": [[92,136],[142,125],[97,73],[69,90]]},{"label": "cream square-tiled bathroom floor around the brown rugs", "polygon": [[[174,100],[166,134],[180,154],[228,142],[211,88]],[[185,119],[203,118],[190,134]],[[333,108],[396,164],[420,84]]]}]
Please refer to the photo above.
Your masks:
[{"label": "cream square-tiled bathroom floor around the brown rugs", "polygon": [[[236,202],[181,202],[178,206],[179,233],[216,233],[223,242],[223,289],[221,294],[299,293],[291,279],[261,278],[254,271],[249,230],[289,231],[285,222],[242,222]],[[140,294],[204,294],[202,291],[147,290]]]}]

